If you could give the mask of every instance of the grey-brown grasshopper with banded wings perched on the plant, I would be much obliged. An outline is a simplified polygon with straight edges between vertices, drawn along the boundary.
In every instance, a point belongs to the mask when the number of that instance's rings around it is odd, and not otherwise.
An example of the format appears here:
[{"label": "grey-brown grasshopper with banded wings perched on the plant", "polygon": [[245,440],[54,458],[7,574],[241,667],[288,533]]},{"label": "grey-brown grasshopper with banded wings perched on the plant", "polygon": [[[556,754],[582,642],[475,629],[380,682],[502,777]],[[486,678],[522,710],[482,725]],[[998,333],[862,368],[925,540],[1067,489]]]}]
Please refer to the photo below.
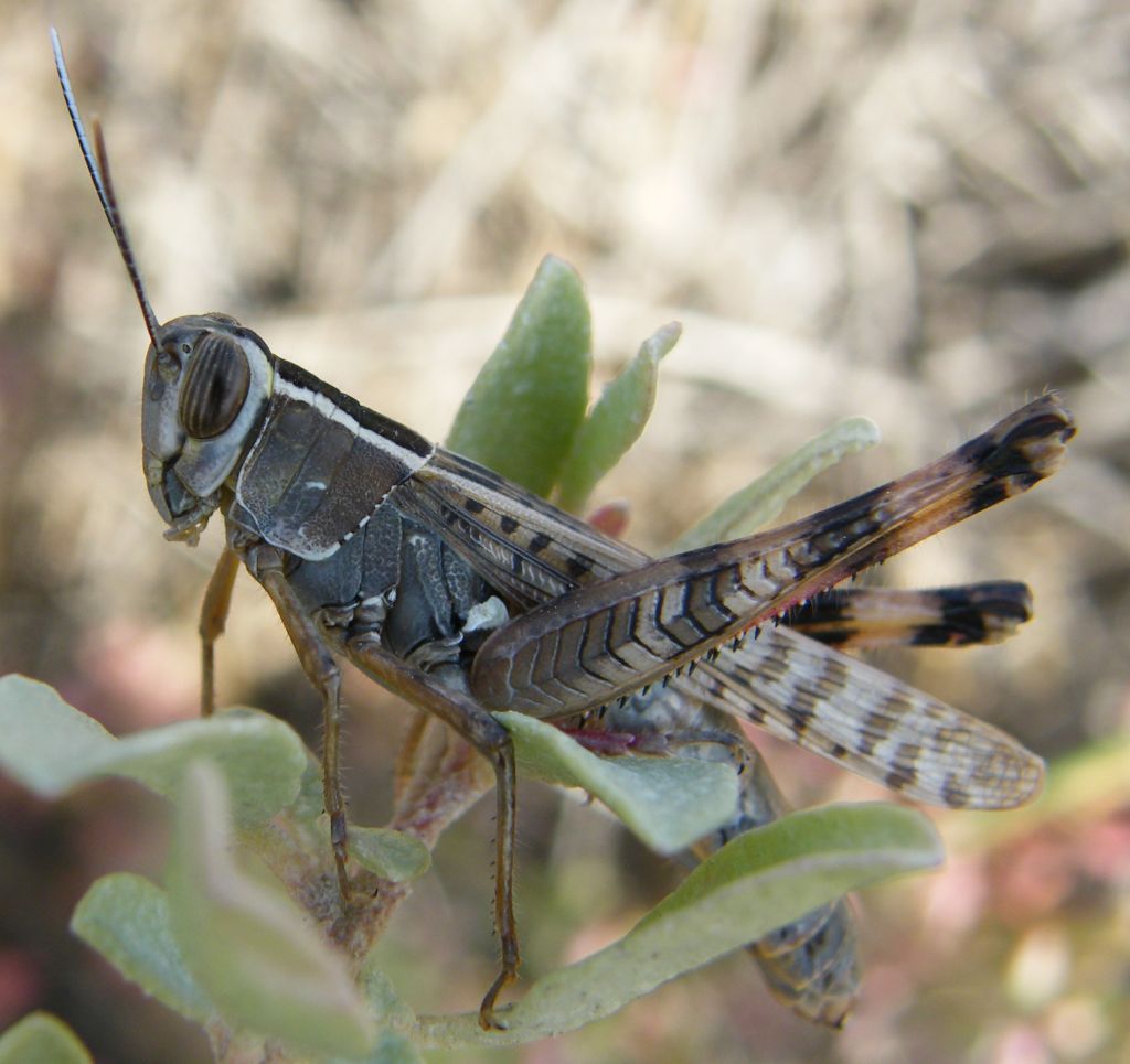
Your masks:
[{"label": "grey-brown grasshopper with banded wings perched on the plant", "polygon": [[[202,713],[214,709],[214,649],[242,565],[278,610],[321,698],[323,797],[346,907],[355,899],[338,661],[434,714],[488,760],[497,783],[502,958],[479,1010],[484,1028],[503,1026],[496,1001],[520,962],[514,750],[493,712],[571,723],[598,747],[626,733],[643,752],[681,745],[699,750],[692,756],[731,758],[745,769],[740,808],[701,853],[784,811],[733,719],[924,802],[1009,808],[1036,791],[1042,764],[1011,738],[829,645],[867,643],[867,633],[888,642],[977,642],[1026,616],[1023,588],[1007,585],[1003,607],[982,601],[976,588],[933,599],[888,593],[885,603],[876,593],[828,592],[1054,472],[1075,431],[1057,395],[811,517],[652,559],[363,407],[272,354],[234,317],[162,324],[121,218],[101,128],[92,147],[52,38],[75,132],[150,340],[141,411],[150,498],[169,540],[194,544],[216,514],[225,526],[201,611]],[[925,620],[896,619],[875,635],[876,614],[897,618],[915,605]],[[750,631],[760,638],[745,640]],[[798,1012],[837,1026],[854,995],[853,934],[838,902],[751,949]]]}]

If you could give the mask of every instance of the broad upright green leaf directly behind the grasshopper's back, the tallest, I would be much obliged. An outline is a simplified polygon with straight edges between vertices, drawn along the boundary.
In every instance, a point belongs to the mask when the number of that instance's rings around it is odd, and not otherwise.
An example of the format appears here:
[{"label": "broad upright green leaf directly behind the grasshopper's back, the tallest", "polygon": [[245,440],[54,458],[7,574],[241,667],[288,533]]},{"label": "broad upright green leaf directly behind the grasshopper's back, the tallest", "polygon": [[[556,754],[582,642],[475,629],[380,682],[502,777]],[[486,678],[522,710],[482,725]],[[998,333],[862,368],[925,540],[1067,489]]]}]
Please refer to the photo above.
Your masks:
[{"label": "broad upright green leaf directly behind the grasshopper's back, the tallest", "polygon": [[589,403],[591,343],[581,278],[547,255],[467,393],[446,445],[548,495]]}]

